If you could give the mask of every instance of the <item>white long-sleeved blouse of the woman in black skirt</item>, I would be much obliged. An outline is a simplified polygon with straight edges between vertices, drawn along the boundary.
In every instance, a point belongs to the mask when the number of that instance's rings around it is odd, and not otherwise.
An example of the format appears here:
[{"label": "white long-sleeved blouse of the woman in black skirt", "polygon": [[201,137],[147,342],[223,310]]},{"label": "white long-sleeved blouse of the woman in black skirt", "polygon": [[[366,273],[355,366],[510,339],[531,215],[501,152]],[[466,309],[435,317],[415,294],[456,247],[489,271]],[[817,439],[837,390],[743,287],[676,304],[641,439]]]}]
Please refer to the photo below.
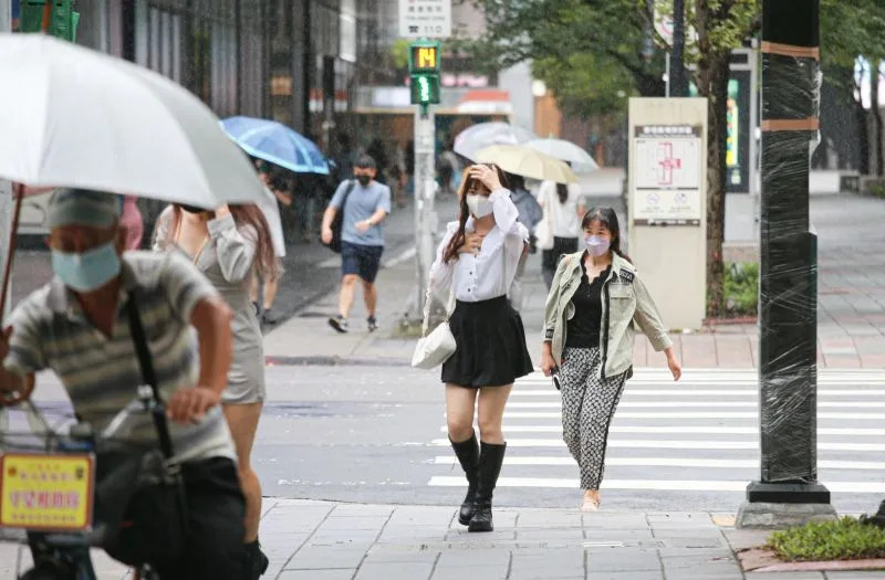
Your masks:
[{"label": "white long-sleeved blouse of the woman in black skirt", "polygon": [[[529,231],[517,221],[519,212],[510,201],[510,191],[497,189],[489,196],[489,201],[494,226],[482,240],[478,255],[458,254],[448,264],[442,263],[449,242],[458,233],[458,222],[449,222],[430,267],[430,288],[437,294],[452,291],[461,302],[481,302],[504,296],[510,291]],[[465,231],[470,233],[473,230],[471,217]]]}]

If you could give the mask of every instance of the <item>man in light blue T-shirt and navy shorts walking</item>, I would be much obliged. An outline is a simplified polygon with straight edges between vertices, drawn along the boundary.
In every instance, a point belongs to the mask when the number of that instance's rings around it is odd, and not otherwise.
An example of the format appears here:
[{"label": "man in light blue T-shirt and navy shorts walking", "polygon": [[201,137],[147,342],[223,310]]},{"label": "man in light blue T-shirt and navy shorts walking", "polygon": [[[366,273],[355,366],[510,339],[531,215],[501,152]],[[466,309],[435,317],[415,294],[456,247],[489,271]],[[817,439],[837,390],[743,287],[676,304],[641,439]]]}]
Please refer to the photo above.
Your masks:
[{"label": "man in light blue T-shirt and navy shorts walking", "polygon": [[[382,223],[391,213],[391,188],[375,181],[377,166],[375,160],[364,155],[354,164],[355,181],[344,180],[335,191],[323,215],[322,238],[324,243],[332,241],[332,222],[339,211],[344,212],[341,230],[341,295],[339,315],[329,319],[330,326],[339,333],[347,331],[347,315],[353,306],[356,280],[363,281],[363,298],[368,314],[368,331],[378,328],[375,305],[378,291],[375,277],[384,253],[384,229]],[[344,203],[344,198],[347,202]],[[342,204],[344,205],[342,208]]]}]

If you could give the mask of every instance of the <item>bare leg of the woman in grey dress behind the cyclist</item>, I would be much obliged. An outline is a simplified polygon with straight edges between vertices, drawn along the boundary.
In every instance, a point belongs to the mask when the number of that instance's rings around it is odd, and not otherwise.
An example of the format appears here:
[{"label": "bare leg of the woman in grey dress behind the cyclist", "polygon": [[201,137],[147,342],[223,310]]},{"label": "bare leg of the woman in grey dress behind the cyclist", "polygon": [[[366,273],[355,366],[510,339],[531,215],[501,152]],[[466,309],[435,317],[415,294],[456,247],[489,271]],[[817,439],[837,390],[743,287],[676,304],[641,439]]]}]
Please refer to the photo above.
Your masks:
[{"label": "bare leg of the woman in grey dress behind the cyclist", "polygon": [[258,523],[261,519],[261,483],[252,470],[251,455],[262,404],[226,404],[223,407],[233,445],[237,447],[240,486],[246,497],[246,538],[243,538],[243,544],[256,541]]}]

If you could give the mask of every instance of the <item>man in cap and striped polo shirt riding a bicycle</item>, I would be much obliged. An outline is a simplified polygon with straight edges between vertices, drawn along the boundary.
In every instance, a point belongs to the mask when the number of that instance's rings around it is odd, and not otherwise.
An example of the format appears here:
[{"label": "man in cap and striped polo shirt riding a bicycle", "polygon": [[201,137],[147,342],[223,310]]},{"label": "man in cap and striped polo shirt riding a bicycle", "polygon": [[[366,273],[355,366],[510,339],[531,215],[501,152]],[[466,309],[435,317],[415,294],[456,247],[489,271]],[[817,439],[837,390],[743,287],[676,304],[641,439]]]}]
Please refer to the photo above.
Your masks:
[{"label": "man in cap and striped polo shirt riding a bicycle", "polygon": [[[249,578],[236,453],[218,404],[230,365],[231,312],[177,253],[124,254],[119,210],[116,196],[53,193],[48,222],[55,277],[19,304],[0,335],[0,399],[25,399],[34,373],[52,369],[80,419],[96,431],[107,426],[144,383],[126,307],[135,300],[188,505],[186,557],[155,567],[164,580]],[[149,416],[134,421],[132,439],[156,444]]]}]

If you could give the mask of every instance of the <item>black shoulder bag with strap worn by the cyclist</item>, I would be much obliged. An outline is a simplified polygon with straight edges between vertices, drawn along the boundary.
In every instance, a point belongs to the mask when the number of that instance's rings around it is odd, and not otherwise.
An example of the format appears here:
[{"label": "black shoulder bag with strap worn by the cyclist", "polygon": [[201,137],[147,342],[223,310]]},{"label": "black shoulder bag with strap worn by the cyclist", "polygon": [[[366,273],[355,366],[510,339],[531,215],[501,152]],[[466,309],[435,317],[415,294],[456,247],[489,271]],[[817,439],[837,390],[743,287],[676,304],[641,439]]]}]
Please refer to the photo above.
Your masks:
[{"label": "black shoulder bag with strap worn by the cyclist", "polygon": [[159,450],[98,452],[96,521],[105,527],[102,547],[113,558],[129,566],[157,565],[184,556],[188,536],[185,483],[181,466],[168,461],[174,450],[166,405],[133,293],[126,309],[142,377],[152,390]]}]

